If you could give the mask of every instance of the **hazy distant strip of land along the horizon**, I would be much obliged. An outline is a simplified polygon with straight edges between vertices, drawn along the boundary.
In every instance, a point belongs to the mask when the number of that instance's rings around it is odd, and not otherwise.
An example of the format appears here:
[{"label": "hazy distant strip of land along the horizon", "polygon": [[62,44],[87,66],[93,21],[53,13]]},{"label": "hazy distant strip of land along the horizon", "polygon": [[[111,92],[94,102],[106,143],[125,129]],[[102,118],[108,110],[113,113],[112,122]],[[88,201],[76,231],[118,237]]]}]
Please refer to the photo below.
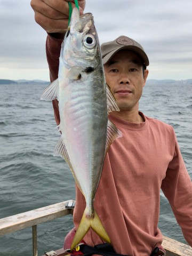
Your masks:
[{"label": "hazy distant strip of land along the horizon", "polygon": [[[19,85],[19,84],[50,84],[49,81],[43,81],[43,80],[25,80],[25,79],[20,79],[20,80],[8,80],[8,79],[0,79],[0,85],[1,84],[15,84],[15,85]],[[172,80],[172,79],[163,79],[163,80],[156,80],[156,79],[148,79],[147,80],[147,84],[150,85],[156,85],[156,84],[191,84],[192,85],[192,79],[186,79],[186,80]]]}]

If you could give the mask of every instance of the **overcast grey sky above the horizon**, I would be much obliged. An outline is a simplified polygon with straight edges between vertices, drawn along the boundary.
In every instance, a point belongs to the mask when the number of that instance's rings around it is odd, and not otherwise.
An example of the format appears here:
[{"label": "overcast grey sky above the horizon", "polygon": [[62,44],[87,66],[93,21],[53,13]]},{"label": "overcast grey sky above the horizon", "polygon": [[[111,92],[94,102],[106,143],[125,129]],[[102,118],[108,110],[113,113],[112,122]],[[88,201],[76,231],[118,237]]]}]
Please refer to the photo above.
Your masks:
[{"label": "overcast grey sky above the horizon", "polygon": [[[87,0],[100,43],[120,35],[138,41],[149,58],[149,79],[192,78],[191,0]],[[0,0],[0,79],[49,81],[46,32],[29,0]]]}]

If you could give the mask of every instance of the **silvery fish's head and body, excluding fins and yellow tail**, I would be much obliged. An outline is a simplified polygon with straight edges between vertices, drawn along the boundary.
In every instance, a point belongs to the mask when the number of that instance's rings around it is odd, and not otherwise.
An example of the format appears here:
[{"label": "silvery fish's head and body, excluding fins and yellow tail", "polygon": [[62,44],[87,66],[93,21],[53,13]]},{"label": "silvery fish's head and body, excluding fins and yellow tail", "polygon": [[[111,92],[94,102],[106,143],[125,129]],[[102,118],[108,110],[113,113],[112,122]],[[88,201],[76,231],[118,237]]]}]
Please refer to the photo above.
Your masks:
[{"label": "silvery fish's head and body, excluding fins and yellow tail", "polygon": [[[92,14],[84,14],[81,20],[83,23],[89,20],[90,27],[86,26],[89,30],[75,30],[73,34],[70,31],[61,50],[59,127],[73,166],[75,180],[85,196],[89,209],[87,214],[91,215],[105,157],[107,101],[105,76]],[[94,42],[87,48],[84,37],[89,36]],[[76,70],[77,74],[74,74]],[[73,79],[74,76],[77,79]]]}]

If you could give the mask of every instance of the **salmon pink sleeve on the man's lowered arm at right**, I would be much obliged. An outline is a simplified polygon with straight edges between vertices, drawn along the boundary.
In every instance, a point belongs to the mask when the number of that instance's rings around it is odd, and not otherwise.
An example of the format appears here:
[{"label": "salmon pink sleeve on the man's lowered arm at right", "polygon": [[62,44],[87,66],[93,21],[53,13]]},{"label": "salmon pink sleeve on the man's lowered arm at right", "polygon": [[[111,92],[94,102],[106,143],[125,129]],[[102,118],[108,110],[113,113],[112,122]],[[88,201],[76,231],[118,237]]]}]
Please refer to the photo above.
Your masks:
[{"label": "salmon pink sleeve on the man's lowered arm at right", "polygon": [[162,182],[162,190],[172,207],[183,236],[192,247],[192,183],[183,161],[177,138],[172,161]]}]

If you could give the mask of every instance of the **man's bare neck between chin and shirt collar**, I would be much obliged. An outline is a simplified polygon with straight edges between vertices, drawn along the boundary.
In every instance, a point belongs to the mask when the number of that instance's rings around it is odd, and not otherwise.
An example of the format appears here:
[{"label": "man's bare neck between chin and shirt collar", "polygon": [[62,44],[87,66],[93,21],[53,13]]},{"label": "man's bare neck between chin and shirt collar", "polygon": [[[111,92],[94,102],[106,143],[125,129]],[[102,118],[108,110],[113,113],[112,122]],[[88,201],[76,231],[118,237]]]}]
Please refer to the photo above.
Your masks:
[{"label": "man's bare neck between chin and shirt collar", "polygon": [[130,123],[143,123],[145,120],[141,115],[139,115],[138,110],[121,110],[121,111],[113,111],[110,113],[111,116],[117,117],[119,119],[123,119]]}]

